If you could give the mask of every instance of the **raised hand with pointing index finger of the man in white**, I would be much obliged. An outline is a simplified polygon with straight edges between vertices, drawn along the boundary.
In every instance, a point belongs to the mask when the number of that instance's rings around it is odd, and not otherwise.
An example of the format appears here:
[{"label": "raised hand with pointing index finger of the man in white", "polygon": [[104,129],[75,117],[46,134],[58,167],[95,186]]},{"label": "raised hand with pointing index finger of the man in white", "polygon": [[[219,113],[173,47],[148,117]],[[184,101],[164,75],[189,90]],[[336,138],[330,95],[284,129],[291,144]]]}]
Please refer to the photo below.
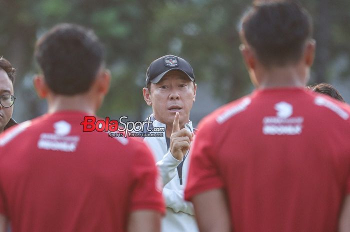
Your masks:
[{"label": "raised hand with pointing index finger of the man in white", "polygon": [[187,153],[190,142],[192,141],[192,133],[182,128],[179,125],[180,114],[176,112],[174,121],[172,123],[172,132],[170,136],[170,153],[176,160],[182,160]]}]

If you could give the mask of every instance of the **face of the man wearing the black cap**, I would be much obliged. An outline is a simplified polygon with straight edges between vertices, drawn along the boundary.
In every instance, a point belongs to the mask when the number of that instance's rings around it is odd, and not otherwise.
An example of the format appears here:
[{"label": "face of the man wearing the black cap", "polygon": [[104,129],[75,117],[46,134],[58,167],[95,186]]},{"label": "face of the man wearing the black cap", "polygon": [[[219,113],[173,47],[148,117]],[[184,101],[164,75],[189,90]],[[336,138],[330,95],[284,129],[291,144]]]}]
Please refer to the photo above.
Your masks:
[{"label": "face of the man wearing the black cap", "polygon": [[189,111],[195,100],[195,84],[182,71],[172,70],[161,80],[150,84],[148,105],[152,106],[154,118],[172,125],[175,113],[179,112],[180,126],[189,121]]}]

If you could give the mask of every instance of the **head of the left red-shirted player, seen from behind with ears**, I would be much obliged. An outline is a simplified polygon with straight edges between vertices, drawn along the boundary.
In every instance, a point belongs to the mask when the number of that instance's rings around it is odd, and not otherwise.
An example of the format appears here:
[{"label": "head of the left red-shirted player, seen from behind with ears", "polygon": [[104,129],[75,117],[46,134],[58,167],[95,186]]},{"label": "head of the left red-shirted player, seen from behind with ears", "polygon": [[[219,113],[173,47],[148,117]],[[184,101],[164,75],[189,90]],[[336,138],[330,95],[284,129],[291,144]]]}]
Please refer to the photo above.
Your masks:
[{"label": "head of the left red-shirted player, seen from behind with ears", "polygon": [[[97,110],[109,86],[102,44],[91,29],[58,24],[36,43],[35,58],[42,76],[34,80],[41,97],[83,96]],[[69,104],[69,102],[67,102]]]}]

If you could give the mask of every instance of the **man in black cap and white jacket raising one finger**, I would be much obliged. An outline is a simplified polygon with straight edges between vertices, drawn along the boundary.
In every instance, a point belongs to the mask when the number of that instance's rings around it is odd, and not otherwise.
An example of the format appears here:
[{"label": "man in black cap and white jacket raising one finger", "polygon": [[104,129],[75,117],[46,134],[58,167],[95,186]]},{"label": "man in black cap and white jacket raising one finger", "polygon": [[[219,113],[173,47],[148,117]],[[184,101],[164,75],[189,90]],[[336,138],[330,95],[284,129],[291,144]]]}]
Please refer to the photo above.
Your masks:
[{"label": "man in black cap and white jacket raising one finger", "polygon": [[[165,128],[160,137],[144,137],[164,185],[166,215],[162,220],[162,232],[198,232],[193,206],[183,199],[194,136],[189,112],[195,92],[193,69],[186,60],[165,55],[149,65],[143,97],[153,110],[151,128]],[[155,130],[148,133],[159,134]]]}]

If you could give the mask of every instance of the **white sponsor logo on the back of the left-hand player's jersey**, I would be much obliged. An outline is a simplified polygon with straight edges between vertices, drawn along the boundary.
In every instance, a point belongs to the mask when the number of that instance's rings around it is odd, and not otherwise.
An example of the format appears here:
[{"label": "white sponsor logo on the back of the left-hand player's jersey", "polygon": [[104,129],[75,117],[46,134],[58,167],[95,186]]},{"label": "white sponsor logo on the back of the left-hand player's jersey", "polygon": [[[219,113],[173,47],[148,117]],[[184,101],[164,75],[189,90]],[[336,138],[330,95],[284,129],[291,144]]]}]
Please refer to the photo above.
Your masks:
[{"label": "white sponsor logo on the back of the left-hand player's jersey", "polygon": [[79,136],[69,135],[71,125],[66,121],[54,123],[54,134],[41,133],[37,142],[37,148],[43,150],[74,152],[80,140]]}]

